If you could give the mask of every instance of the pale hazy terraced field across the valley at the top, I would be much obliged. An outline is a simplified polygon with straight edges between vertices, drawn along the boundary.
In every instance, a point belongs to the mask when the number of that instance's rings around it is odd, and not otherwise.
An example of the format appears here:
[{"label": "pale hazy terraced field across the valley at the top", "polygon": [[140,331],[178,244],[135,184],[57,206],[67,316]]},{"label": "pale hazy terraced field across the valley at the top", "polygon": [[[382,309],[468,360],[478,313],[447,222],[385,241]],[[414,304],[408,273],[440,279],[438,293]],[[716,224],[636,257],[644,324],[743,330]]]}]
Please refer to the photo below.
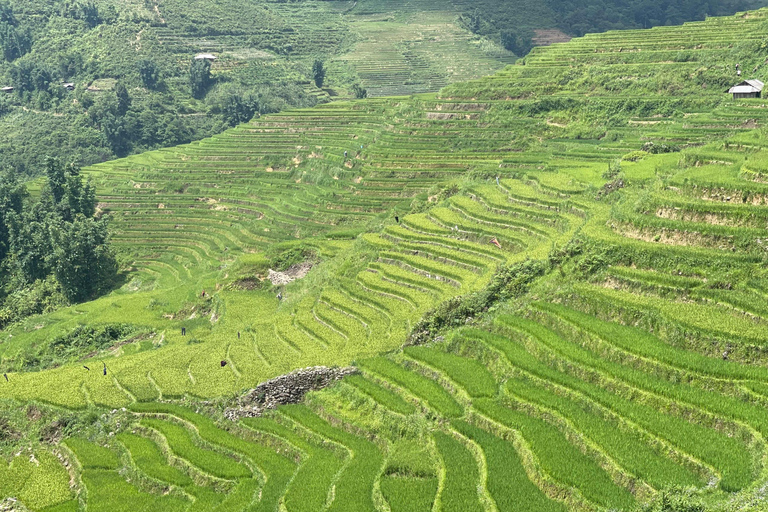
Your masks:
[{"label": "pale hazy terraced field across the valley at the top", "polygon": [[[253,73],[250,67],[269,75],[280,66],[295,67],[296,59],[322,55],[327,56],[332,94],[354,82],[369,96],[437,91],[448,83],[493,73],[515,59],[457,23],[458,14],[467,10],[463,1],[155,4],[150,14],[156,26],[144,38],[178,55],[180,69],[186,69],[191,53],[201,51],[219,57],[214,72]],[[328,99],[314,86],[308,84],[307,90]]]}]

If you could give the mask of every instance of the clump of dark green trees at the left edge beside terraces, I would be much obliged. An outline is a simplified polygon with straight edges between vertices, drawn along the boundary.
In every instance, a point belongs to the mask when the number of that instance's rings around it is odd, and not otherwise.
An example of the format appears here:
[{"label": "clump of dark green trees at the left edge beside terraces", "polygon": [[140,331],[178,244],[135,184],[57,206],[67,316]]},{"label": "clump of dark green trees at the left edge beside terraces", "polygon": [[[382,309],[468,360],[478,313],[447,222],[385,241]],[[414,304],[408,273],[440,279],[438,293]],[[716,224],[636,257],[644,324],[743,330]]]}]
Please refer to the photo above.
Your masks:
[{"label": "clump of dark green trees at the left edge beside terraces", "polygon": [[0,327],[92,299],[116,282],[94,187],[54,158],[44,171],[38,198],[13,170],[0,175]]}]

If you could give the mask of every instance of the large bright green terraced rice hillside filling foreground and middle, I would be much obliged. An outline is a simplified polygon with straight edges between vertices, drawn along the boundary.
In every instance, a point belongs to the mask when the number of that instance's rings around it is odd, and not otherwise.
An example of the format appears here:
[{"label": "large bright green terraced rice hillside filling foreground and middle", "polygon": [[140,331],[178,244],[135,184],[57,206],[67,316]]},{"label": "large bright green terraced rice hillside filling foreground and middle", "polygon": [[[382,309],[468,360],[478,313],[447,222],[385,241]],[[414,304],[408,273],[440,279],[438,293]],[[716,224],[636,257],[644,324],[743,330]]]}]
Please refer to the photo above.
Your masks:
[{"label": "large bright green terraced rice hillside filling foreground and middle", "polygon": [[[705,510],[765,510],[768,108],[722,91],[734,61],[764,78],[767,17],[587,36],[439,95],[265,116],[88,169],[127,282],[7,329],[0,359],[83,324],[152,334],[92,355],[106,375],[0,382],[13,407],[93,419],[18,449],[0,495],[629,511],[682,488]],[[233,286],[298,243],[322,261],[282,300]],[[504,293],[473,309],[500,268]],[[441,304],[467,313],[403,348]],[[302,404],[223,418],[260,382],[350,364]]]}]

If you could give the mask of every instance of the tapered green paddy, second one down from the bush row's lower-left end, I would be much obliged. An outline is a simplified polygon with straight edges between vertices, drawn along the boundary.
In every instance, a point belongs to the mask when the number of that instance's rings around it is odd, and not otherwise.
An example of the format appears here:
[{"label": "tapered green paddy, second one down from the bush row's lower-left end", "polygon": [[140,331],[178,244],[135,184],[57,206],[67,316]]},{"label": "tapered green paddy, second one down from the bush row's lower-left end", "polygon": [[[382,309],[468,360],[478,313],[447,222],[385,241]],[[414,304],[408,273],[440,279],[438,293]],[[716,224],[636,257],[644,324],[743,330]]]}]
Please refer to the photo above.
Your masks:
[{"label": "tapered green paddy, second one down from the bush row's lower-left end", "polygon": [[389,359],[376,357],[359,362],[359,366],[421,398],[427,404],[448,417],[461,416],[463,410],[456,400],[439,384],[415,372],[408,371]]}]

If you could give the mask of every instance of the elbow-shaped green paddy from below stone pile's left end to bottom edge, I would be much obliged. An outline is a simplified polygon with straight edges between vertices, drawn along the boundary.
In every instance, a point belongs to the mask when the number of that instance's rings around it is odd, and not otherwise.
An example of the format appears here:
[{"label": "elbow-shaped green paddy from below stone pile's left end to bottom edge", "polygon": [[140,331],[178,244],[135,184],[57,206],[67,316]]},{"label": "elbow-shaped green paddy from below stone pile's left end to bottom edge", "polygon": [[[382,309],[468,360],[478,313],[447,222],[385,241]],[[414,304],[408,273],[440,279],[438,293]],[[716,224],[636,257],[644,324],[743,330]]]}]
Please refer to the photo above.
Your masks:
[{"label": "elbow-shaped green paddy from below stone pile's left end to bottom edge", "polygon": [[302,464],[283,497],[285,508],[289,512],[321,510],[328,501],[334,479],[343,468],[344,459],[272,419],[246,418],[242,421],[249,428],[284,439],[304,453]]}]

